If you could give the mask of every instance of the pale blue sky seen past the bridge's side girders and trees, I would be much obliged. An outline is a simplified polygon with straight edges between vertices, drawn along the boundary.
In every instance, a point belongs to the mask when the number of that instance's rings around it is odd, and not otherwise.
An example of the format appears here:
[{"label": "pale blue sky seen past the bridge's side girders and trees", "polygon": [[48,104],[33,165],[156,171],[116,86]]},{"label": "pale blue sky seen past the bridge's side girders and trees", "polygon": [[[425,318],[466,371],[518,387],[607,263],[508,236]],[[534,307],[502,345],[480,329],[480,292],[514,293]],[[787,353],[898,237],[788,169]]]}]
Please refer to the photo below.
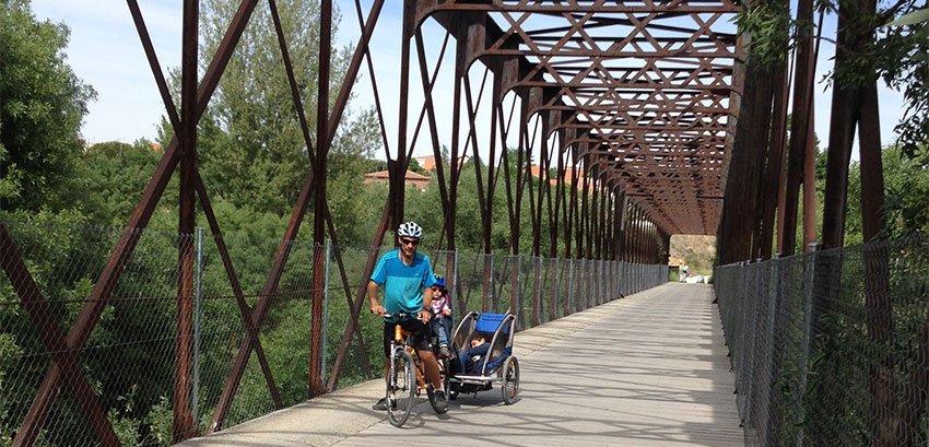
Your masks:
[{"label": "pale blue sky seen past the bridge's side girders and trees", "polygon": [[[352,45],[358,40],[360,31],[354,1],[336,0],[337,9],[341,10],[342,22],[333,36],[337,45]],[[367,14],[372,0],[362,0],[362,8]],[[153,45],[158,56],[162,70],[180,64],[181,4],[176,0],[139,0],[139,5],[145,19]],[[385,111],[385,122],[388,129],[388,144],[391,151],[397,146],[397,116],[399,115],[399,78],[400,78],[400,1],[388,0],[381,12],[371,44],[373,61],[376,70],[377,84],[381,106]],[[103,141],[122,141],[131,143],[139,138],[154,140],[157,137],[157,125],[165,115],[164,104],[158,95],[154,78],[149,69],[144,51],[132,24],[129,9],[124,1],[118,0],[33,0],[33,12],[39,20],[63,22],[71,30],[71,38],[66,50],[67,62],[75,74],[85,83],[91,84],[97,92],[97,98],[90,104],[89,114],[81,128],[82,137],[92,143]],[[267,2],[259,2],[258,8],[267,8]],[[824,36],[835,36],[835,19],[830,17],[823,26]],[[423,33],[426,42],[426,54],[430,67],[442,49],[445,31],[433,21],[424,24]],[[293,44],[291,44],[293,45]],[[438,113],[438,133],[448,136],[451,132],[450,113],[443,113],[440,105],[450,105],[452,82],[451,71],[454,58],[454,40],[449,42],[449,55],[440,67],[438,82],[433,91]],[[415,51],[414,51],[415,52]],[[818,62],[818,81],[822,80],[832,69],[834,47],[823,42]],[[415,67],[416,59],[411,63]],[[473,67],[472,90],[475,92],[481,82],[482,67]],[[200,73],[202,75],[202,73]],[[422,104],[422,89],[419,71],[411,71],[410,89],[410,139],[416,125]],[[354,90],[354,110],[374,106],[371,80],[367,68],[363,67],[360,82]],[[823,142],[827,141],[828,116],[832,92],[825,82],[820,82],[815,89],[815,129],[816,136]],[[899,92],[881,86],[881,140],[884,144],[892,143],[895,136],[893,127],[899,121],[904,103]],[[474,97],[477,99],[477,96]],[[489,98],[484,99],[485,102]],[[505,107],[509,103],[505,102]],[[484,107],[485,108],[485,107]],[[448,111],[450,106],[446,106]],[[351,113],[351,111],[350,111]],[[483,128],[489,128],[489,114],[481,111],[478,121]],[[431,153],[428,138],[423,129],[414,155]],[[462,132],[465,133],[465,132]],[[514,132],[515,133],[515,132]],[[445,137],[443,137],[445,138]],[[448,144],[447,141],[443,141]],[[516,141],[511,141],[511,145]],[[487,143],[479,140],[482,152]],[[379,151],[381,152],[381,151]],[[381,152],[383,153],[383,152]],[[391,152],[396,153],[396,152]],[[383,155],[380,156],[383,157]],[[857,149],[854,157],[857,158]]]}]

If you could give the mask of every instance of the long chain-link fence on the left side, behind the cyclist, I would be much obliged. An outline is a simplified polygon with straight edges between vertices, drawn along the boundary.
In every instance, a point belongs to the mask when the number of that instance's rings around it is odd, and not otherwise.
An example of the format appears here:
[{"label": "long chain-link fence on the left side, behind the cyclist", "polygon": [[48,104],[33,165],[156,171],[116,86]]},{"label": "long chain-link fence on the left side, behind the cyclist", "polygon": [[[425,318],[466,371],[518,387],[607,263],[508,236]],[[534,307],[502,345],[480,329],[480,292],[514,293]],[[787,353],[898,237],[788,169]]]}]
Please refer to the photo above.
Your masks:
[{"label": "long chain-link fence on the left side, behind the cyclist", "polygon": [[[314,333],[321,339],[317,344],[324,381],[332,378],[337,364],[338,384],[330,381],[337,387],[380,375],[381,321],[367,311],[363,277],[369,259],[390,247],[306,242],[282,247],[280,239],[248,235],[225,235],[217,242],[202,230],[183,236],[145,230],[136,233],[133,254],[113,292],[89,301],[124,237],[121,230],[3,226],[9,237],[0,244],[0,445],[25,432],[33,433],[33,445],[98,445],[101,421],[122,445],[167,445],[177,399],[189,405],[197,433],[205,433],[242,350],[250,355],[221,427],[293,405],[309,396]],[[272,263],[282,248],[289,250],[289,261],[277,287],[269,289]],[[450,279],[457,318],[468,310],[509,310],[520,328],[668,278],[667,266],[423,252],[438,274]],[[23,264],[15,278],[8,269],[13,258]],[[30,282],[34,295],[23,292]],[[317,297],[322,301],[317,304],[321,328],[314,330]],[[256,317],[262,306],[267,311]],[[99,309],[98,316],[85,320],[82,309],[87,308]],[[251,328],[258,333],[254,350],[246,340]],[[80,337],[81,329],[86,337]],[[49,340],[63,344],[55,348]],[[77,367],[58,365],[67,358],[75,358]],[[177,375],[177,368],[189,373]],[[181,387],[179,376],[186,380]],[[50,379],[54,386],[48,388]],[[74,391],[81,380],[89,393]],[[96,415],[89,410],[94,398],[102,409]]]}]

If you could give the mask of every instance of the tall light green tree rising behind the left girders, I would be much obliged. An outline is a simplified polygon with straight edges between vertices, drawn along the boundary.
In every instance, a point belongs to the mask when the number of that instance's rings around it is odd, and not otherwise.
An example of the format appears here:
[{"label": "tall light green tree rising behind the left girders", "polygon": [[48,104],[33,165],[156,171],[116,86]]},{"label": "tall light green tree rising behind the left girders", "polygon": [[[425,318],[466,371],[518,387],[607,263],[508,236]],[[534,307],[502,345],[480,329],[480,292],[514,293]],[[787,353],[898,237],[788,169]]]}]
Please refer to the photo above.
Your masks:
[{"label": "tall light green tree rising behind the left girders", "polygon": [[[231,0],[203,2],[201,71],[215,52],[237,4]],[[278,5],[309,134],[315,139],[319,4],[292,0]],[[333,23],[338,26],[338,14]],[[338,95],[350,56],[349,48],[332,51],[330,104]],[[176,92],[177,71],[173,84]],[[332,152],[369,155],[379,137],[373,119],[369,111],[354,122],[343,119]],[[163,121],[160,133],[162,143],[167,143],[173,136],[167,121]],[[268,8],[255,9],[200,121],[198,156],[208,190],[237,208],[284,214],[296,202],[309,170],[309,156]]]}]

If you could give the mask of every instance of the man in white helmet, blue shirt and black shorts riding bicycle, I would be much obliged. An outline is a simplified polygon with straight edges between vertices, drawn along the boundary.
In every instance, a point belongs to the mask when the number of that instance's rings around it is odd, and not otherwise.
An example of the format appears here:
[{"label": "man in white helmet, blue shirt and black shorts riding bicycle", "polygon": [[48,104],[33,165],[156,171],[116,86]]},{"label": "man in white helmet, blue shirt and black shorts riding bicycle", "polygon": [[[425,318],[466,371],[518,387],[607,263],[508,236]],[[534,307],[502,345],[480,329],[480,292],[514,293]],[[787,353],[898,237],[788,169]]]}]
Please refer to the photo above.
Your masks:
[{"label": "man in white helmet, blue shirt and black shorts riding bicycle", "polygon": [[[432,383],[436,410],[445,411],[448,402],[442,390],[438,361],[432,350],[432,331],[428,327],[432,314],[428,303],[432,302],[432,285],[435,275],[432,272],[432,263],[425,255],[418,254],[420,238],[423,228],[415,222],[401,224],[397,230],[400,248],[388,251],[377,261],[377,267],[371,275],[367,284],[367,297],[371,302],[371,311],[383,316],[386,313],[419,314],[420,320],[410,319],[400,321],[403,330],[413,337],[413,348],[422,361],[426,370],[426,378]],[[377,287],[384,286],[384,306],[377,301]],[[393,340],[393,327],[396,321],[384,322],[384,355],[390,358],[390,342]],[[390,372],[390,362],[384,363],[384,377]],[[383,398],[372,407],[375,410],[387,410],[387,399]]]}]

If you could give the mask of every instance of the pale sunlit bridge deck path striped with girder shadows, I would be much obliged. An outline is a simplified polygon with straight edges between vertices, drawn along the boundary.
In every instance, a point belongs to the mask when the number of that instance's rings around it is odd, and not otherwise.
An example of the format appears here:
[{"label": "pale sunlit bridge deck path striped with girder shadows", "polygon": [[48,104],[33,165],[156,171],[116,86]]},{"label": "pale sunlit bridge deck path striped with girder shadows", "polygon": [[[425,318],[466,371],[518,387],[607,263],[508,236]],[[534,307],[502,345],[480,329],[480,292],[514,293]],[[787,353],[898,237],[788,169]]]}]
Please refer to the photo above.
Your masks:
[{"label": "pale sunlit bridge deck path striped with girder shadows", "polygon": [[521,391],[428,403],[402,428],[380,380],[184,446],[743,446],[713,290],[668,283],[516,334]]}]

